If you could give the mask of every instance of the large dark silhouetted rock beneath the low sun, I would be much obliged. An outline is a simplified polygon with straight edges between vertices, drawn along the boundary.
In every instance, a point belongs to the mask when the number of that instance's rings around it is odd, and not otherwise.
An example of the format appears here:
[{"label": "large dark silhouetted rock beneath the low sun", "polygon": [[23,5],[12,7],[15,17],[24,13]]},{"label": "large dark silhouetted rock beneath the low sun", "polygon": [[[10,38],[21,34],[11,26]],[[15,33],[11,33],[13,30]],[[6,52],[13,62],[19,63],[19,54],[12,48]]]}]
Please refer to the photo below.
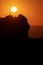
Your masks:
[{"label": "large dark silhouetted rock beneath the low sun", "polygon": [[30,25],[27,23],[27,18],[23,15],[18,15],[18,17],[13,17],[8,15],[4,18],[0,18],[0,38],[3,39],[27,39],[28,30]]}]

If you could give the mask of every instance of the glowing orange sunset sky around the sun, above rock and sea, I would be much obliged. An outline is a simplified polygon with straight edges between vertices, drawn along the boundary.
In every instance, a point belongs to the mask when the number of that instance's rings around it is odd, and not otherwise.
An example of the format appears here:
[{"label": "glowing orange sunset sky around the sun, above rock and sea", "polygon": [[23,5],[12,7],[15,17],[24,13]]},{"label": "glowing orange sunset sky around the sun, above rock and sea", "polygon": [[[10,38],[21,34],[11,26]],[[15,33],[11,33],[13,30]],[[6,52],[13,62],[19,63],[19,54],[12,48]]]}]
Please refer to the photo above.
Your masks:
[{"label": "glowing orange sunset sky around the sun, above rock and sea", "polygon": [[0,17],[11,12],[11,7],[16,6],[16,15],[22,13],[28,18],[30,25],[43,25],[43,0],[0,0]]}]

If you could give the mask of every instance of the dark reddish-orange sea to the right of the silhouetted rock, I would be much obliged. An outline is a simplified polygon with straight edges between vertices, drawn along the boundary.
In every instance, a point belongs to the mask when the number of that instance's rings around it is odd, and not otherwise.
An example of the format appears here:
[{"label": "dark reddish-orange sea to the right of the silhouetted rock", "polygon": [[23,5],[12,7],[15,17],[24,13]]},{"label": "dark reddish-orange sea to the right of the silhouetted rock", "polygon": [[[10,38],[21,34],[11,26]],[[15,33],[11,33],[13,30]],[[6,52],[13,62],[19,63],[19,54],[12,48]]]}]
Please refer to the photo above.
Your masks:
[{"label": "dark reddish-orange sea to the right of the silhouetted rock", "polygon": [[43,25],[32,25],[28,31],[29,37],[31,38],[41,38],[43,37]]}]

